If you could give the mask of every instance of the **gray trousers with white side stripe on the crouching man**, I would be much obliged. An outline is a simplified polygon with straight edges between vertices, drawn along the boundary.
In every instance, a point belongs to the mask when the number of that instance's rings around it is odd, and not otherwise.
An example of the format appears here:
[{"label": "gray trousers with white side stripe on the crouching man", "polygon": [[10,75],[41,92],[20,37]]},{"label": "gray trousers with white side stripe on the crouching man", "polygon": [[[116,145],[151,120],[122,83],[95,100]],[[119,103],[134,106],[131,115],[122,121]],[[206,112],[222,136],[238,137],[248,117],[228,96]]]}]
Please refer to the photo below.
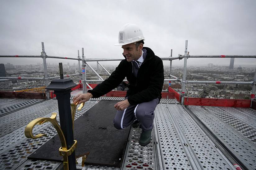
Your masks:
[{"label": "gray trousers with white side stripe on the crouching man", "polygon": [[142,125],[142,130],[153,129],[154,111],[159,102],[159,99],[154,99],[149,102],[130,105],[123,111],[117,111],[114,119],[114,126],[117,129],[124,129],[133,121],[138,119]]}]

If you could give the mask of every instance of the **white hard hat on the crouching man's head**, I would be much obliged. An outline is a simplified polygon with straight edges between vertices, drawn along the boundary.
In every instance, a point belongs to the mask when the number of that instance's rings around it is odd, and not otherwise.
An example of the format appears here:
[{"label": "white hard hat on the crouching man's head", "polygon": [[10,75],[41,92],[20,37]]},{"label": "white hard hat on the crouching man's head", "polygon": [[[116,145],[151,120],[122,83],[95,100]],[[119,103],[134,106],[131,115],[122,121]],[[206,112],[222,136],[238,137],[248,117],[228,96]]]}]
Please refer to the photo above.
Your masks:
[{"label": "white hard hat on the crouching man's head", "polygon": [[115,45],[126,45],[140,40],[145,40],[142,30],[135,23],[126,23],[118,34],[118,43]]}]

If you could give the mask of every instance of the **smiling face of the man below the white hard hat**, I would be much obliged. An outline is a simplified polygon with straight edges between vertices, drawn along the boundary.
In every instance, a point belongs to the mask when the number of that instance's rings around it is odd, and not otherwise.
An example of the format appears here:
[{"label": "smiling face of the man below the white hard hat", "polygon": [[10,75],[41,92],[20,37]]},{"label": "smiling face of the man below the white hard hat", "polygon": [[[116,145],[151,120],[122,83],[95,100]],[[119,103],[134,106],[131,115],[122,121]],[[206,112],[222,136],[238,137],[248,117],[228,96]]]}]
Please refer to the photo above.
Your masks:
[{"label": "smiling face of the man below the white hard hat", "polygon": [[138,60],[142,55],[142,48],[142,44],[140,44],[138,48],[136,48],[136,45],[133,43],[122,45],[122,49],[124,49],[124,55],[126,56],[127,62]]}]

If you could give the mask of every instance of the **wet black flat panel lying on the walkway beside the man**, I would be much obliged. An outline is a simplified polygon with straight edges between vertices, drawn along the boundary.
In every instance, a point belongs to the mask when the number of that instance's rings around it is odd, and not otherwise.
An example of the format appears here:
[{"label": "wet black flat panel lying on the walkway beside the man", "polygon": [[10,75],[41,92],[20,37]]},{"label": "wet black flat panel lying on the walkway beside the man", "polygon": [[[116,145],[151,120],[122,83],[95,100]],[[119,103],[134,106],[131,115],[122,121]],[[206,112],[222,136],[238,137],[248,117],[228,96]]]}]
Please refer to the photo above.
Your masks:
[{"label": "wet black flat panel lying on the walkway beside the man", "polygon": [[[75,155],[90,152],[85,164],[121,167],[129,137],[130,126],[117,130],[113,126],[118,101],[101,100],[75,120],[74,139],[77,140]],[[54,136],[28,159],[62,161],[59,155],[61,142]]]}]

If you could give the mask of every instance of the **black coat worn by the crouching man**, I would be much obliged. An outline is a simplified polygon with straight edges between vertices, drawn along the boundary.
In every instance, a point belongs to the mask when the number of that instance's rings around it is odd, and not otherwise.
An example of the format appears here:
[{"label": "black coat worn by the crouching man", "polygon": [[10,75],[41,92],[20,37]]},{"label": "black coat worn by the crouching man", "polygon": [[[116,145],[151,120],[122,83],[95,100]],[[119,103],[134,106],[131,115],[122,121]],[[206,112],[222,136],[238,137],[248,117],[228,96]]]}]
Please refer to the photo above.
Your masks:
[{"label": "black coat worn by the crouching man", "polygon": [[132,63],[124,59],[108,79],[88,92],[94,98],[100,97],[116,88],[126,77],[129,81],[126,96],[130,104],[136,105],[156,98],[160,101],[164,82],[163,62],[150,48],[143,47],[143,49],[147,50],[147,55],[139,68],[137,78],[132,73]]}]

